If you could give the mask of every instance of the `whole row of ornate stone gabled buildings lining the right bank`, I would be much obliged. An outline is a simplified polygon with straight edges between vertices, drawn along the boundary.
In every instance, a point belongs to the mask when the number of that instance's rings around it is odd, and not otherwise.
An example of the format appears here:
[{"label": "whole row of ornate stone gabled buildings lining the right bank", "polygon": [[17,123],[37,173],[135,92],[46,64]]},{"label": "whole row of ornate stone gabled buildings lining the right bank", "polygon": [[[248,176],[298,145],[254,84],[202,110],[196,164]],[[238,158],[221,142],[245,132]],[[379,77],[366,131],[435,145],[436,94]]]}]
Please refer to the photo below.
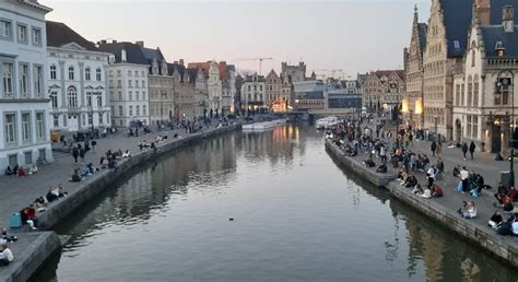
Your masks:
[{"label": "whole row of ornate stone gabled buildings lining the right bank", "polygon": [[433,1],[414,12],[405,56],[408,124],[493,153],[516,148],[516,0]]}]

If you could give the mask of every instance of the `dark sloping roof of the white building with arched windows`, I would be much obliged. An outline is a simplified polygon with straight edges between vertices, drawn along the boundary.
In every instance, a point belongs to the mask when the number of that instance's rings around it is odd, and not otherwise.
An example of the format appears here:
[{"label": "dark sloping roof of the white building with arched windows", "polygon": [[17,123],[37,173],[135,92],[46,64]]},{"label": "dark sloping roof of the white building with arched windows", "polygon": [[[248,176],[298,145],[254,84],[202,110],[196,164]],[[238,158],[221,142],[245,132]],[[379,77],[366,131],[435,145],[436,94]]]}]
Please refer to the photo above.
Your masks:
[{"label": "dark sloping roof of the white building with arched windows", "polygon": [[61,47],[63,45],[75,43],[90,51],[98,51],[95,44],[86,40],[83,36],[74,32],[68,25],[58,22],[47,21],[47,46]]}]

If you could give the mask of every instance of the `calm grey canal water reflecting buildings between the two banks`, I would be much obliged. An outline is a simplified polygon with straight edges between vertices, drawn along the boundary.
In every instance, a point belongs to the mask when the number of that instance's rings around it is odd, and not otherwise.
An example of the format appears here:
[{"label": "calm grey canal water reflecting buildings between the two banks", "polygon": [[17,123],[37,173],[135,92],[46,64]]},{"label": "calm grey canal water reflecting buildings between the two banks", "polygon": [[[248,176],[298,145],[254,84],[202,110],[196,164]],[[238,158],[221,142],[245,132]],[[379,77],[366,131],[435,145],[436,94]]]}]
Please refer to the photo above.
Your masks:
[{"label": "calm grey canal water reflecting buildings between the two banks", "polygon": [[136,171],[58,227],[34,281],[517,281],[342,171],[322,132],[236,132]]}]

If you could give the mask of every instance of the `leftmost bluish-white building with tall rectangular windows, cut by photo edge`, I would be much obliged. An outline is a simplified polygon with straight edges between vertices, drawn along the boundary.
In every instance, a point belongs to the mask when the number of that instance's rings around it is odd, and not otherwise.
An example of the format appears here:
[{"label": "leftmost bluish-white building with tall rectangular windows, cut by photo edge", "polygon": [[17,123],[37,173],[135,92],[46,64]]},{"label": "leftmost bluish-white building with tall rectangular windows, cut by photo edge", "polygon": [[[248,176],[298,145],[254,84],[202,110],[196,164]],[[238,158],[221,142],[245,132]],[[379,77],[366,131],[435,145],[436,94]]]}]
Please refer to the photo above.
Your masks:
[{"label": "leftmost bluish-white building with tall rectangular windows, cut by photo edge", "polygon": [[36,0],[0,0],[0,169],[52,161],[45,15]]}]

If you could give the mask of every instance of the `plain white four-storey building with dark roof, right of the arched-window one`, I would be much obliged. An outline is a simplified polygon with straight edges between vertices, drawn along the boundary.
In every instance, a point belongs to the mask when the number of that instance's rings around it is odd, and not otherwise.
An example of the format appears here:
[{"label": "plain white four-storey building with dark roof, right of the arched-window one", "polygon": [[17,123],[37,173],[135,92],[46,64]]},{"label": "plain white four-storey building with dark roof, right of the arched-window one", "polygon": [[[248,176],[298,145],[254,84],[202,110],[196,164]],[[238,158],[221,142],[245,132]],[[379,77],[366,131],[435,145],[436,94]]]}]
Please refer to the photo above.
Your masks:
[{"label": "plain white four-storey building with dark roof, right of the arched-window one", "polygon": [[111,52],[108,68],[111,125],[136,127],[150,125],[148,91],[148,60],[139,45],[133,43],[98,44],[104,52]]}]

